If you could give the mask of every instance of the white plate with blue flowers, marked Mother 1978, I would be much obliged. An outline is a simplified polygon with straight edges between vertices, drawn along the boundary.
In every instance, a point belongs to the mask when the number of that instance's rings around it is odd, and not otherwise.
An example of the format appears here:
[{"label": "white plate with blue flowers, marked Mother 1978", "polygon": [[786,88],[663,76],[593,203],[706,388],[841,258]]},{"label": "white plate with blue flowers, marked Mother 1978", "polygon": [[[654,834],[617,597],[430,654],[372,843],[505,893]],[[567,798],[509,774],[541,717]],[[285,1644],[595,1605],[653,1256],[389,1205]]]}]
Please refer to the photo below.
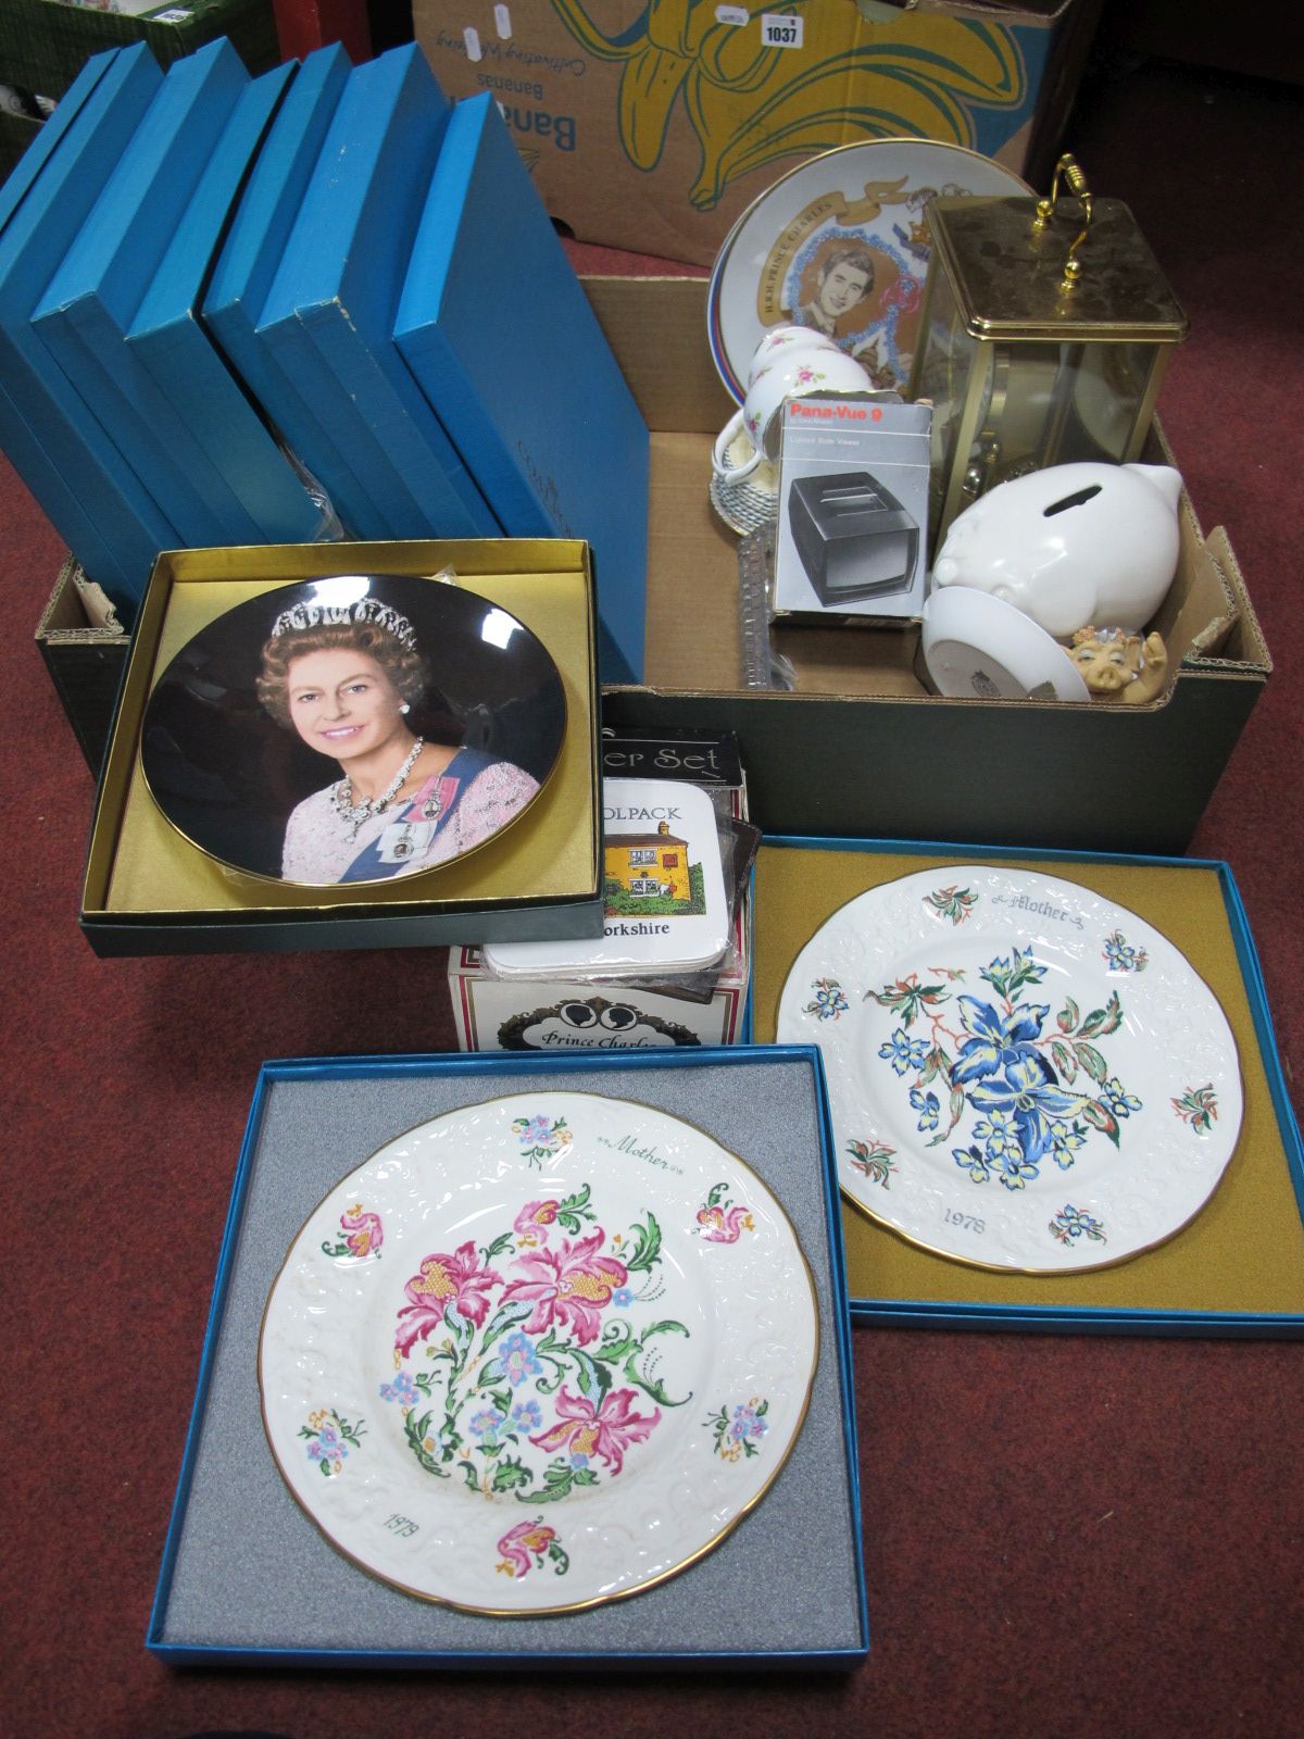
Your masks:
[{"label": "white plate with blue flowers, marked Mother 1978", "polygon": [[824,1054],[843,1193],[981,1268],[1137,1256],[1236,1148],[1236,1042],[1203,979],[1135,913],[1024,870],[848,901],[788,974],[777,1036]]}]

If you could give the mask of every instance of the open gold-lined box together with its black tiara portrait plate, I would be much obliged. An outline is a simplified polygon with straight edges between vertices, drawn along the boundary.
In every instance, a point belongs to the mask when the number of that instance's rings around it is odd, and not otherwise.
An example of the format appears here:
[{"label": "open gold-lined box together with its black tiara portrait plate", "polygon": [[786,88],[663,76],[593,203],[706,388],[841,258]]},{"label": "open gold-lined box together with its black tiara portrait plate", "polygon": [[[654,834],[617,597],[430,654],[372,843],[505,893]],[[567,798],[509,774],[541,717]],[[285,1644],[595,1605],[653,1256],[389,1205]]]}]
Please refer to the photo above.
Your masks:
[{"label": "open gold-lined box together with its black tiara portrait plate", "polygon": [[[349,690],[348,713],[334,678],[316,690],[323,706],[311,687],[299,694],[309,673],[294,647],[311,647],[318,621],[353,624],[349,645],[358,626],[369,643],[381,630],[395,642],[412,753],[393,791],[422,755],[442,772],[393,810],[358,805],[339,779],[337,743],[372,729],[369,690]],[[565,539],[162,555],[96,803],[82,897],[92,948],[598,934],[595,642],[588,548]],[[462,746],[431,748],[443,741]],[[322,788],[323,772],[336,783]]]}]

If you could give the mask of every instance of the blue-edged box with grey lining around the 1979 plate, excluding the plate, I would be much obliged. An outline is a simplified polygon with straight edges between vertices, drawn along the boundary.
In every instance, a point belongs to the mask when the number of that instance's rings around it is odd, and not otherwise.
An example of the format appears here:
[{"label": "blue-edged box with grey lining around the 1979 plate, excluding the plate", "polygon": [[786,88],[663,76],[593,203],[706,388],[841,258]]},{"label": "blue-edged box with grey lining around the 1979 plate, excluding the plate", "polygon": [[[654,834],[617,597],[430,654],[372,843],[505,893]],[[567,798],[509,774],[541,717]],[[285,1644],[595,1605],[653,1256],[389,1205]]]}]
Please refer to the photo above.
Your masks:
[{"label": "blue-edged box with grey lining around the 1979 plate, excluding the plate", "polygon": [[[374,1069],[374,1066],[372,1066]],[[153,1647],[429,1656],[476,1664],[522,1656],[798,1656],[862,1652],[859,1536],[848,1466],[817,1075],[802,1059],[487,1073],[273,1073],[256,1132],[190,1496]],[[343,1558],[303,1515],[271,1459],[257,1389],[268,1290],[313,1207],[381,1144],[442,1111],[530,1089],[598,1092],[683,1116],[742,1156],[793,1219],[819,1296],[810,1410],[767,1496],[680,1576],[556,1617],[499,1619],[400,1593]],[[341,1657],[339,1664],[348,1664]]]}]

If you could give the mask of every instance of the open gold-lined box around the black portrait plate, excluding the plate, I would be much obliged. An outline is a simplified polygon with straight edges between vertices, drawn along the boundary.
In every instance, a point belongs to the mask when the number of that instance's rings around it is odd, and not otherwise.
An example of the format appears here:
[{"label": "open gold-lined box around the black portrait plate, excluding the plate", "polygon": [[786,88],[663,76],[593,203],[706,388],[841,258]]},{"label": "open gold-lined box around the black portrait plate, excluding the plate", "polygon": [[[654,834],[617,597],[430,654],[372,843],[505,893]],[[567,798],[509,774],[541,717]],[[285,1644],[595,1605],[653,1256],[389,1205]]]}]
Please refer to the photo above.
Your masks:
[{"label": "open gold-lined box around the black portrait plate, excluding the plate", "polygon": [[[560,751],[529,810],[485,843],[410,876],[308,885],[200,850],[150,795],[146,703],[172,657],[228,610],[287,581],[438,574],[529,628],[560,678]],[[266,631],[266,630],[261,630]],[[82,930],[101,955],[400,948],[602,932],[596,623],[588,546],[567,539],[268,544],[160,555],[132,636],[90,831]],[[250,664],[257,649],[250,649]],[[252,678],[250,678],[252,680]],[[221,694],[221,689],[217,689]],[[506,708],[504,708],[506,711]],[[238,741],[233,732],[233,741]],[[266,750],[257,753],[266,755]],[[236,774],[240,767],[233,769]],[[200,772],[236,791],[223,767]],[[230,802],[238,802],[231,798]],[[250,816],[250,824],[257,817]],[[283,824],[283,823],[282,823]],[[240,864],[249,857],[236,857]]]}]

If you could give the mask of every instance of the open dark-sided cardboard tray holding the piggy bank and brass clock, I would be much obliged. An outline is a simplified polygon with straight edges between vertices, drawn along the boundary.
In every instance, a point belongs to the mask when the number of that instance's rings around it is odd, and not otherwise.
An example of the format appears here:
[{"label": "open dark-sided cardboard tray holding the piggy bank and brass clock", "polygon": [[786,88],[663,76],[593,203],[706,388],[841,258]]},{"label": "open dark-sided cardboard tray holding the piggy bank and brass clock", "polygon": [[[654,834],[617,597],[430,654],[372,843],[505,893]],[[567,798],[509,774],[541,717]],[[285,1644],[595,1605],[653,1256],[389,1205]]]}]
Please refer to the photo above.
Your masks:
[{"label": "open dark-sided cardboard tray holding the piggy bank and brass clock", "polygon": [[[781,628],[795,692],[742,687],[737,539],[708,501],[711,440],[734,410],[706,346],[697,278],[588,278],[652,433],[645,683],[603,718],[652,734],[734,730],[767,833],[1184,852],[1271,671],[1236,556],[1182,497],[1161,612],[1177,678],[1149,706],[946,701],[918,675],[916,628]],[[1156,459],[1170,454],[1153,436]],[[68,694],[68,685],[61,683]],[[1017,779],[974,777],[982,765]],[[1066,769],[1130,769],[1146,803],[1085,803]]]}]

